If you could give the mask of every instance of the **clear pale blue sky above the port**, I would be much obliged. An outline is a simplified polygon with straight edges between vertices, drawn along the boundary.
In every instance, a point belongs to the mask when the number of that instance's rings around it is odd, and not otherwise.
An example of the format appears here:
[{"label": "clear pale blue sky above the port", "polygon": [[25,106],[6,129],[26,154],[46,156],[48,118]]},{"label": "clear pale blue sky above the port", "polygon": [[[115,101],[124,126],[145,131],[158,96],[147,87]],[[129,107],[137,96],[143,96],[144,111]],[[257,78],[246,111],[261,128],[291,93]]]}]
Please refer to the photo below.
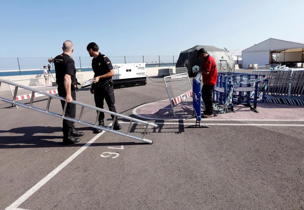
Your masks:
[{"label": "clear pale blue sky above the port", "polygon": [[0,58],[179,55],[195,45],[248,48],[268,38],[304,43],[304,0],[2,1]]}]

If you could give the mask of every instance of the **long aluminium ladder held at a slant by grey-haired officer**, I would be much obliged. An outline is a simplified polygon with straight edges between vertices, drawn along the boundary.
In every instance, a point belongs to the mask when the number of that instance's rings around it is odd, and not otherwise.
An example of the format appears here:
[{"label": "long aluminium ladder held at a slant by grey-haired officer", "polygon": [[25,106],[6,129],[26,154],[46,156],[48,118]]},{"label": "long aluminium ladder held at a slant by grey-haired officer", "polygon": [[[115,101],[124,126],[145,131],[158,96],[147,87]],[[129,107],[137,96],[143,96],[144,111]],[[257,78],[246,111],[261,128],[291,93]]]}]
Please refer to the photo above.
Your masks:
[{"label": "long aluminium ladder held at a slant by grey-haired officer", "polygon": [[[146,139],[145,135],[147,133],[148,126],[152,126],[152,127],[157,128],[157,125],[154,124],[154,123],[145,122],[145,121],[142,121],[142,120],[138,120],[138,119],[135,119],[135,118],[132,118],[132,117],[121,115],[121,114],[118,114],[118,113],[115,113],[115,112],[110,112],[110,111],[107,111],[105,109],[97,108],[95,106],[87,105],[87,104],[84,104],[84,103],[81,103],[81,102],[77,102],[77,101],[72,101],[71,103],[73,103],[75,105],[78,105],[78,106],[81,106],[81,111],[80,111],[79,118],[77,119],[77,118],[66,117],[65,116],[65,112],[66,112],[66,108],[67,108],[67,102],[65,102],[62,114],[59,114],[59,113],[56,113],[56,112],[50,112],[49,111],[51,98],[59,99],[60,101],[61,100],[65,101],[65,98],[57,96],[57,95],[52,95],[52,94],[49,94],[47,92],[41,92],[41,91],[38,91],[36,89],[26,87],[24,85],[18,85],[16,83],[8,82],[8,81],[4,81],[4,80],[0,79],[0,87],[1,87],[2,83],[6,83],[8,85],[15,86],[15,91],[14,91],[14,95],[13,95],[13,99],[12,100],[0,97],[1,101],[7,102],[7,103],[10,103],[10,104],[14,104],[14,105],[19,105],[21,107],[28,108],[28,109],[31,109],[31,110],[34,110],[34,111],[37,111],[37,112],[41,112],[41,113],[47,114],[47,115],[52,115],[52,116],[57,117],[57,118],[66,119],[66,120],[69,120],[69,121],[72,121],[72,122],[77,122],[79,124],[86,125],[86,126],[89,126],[89,127],[92,127],[92,128],[98,128],[98,129],[103,130],[103,131],[108,131],[108,132],[111,132],[111,133],[115,133],[115,134],[118,134],[118,135],[122,135],[122,136],[125,136],[125,137],[133,138],[133,139],[136,139],[136,140],[139,140],[139,141],[143,141],[143,142],[147,142],[147,143],[152,144],[152,141]],[[30,98],[29,105],[23,104],[21,102],[17,102],[16,101],[16,96],[17,96],[17,92],[18,92],[19,88],[26,89],[26,90],[28,90],[28,91],[31,92],[31,98]],[[48,96],[47,105],[46,105],[45,109],[33,106],[34,95],[36,93]],[[98,113],[97,113],[97,117],[96,117],[95,123],[85,122],[85,121],[81,120],[84,108],[91,109],[91,110],[97,110]],[[113,119],[113,123],[112,123],[112,127],[111,128],[105,128],[105,127],[102,127],[102,126],[98,125],[98,117],[99,117],[100,112],[104,112],[104,113],[108,113],[110,115],[114,115],[114,119]],[[128,130],[127,130],[126,133],[113,130],[114,121],[116,120],[117,117],[120,117],[120,118],[123,118],[123,119],[126,119],[126,120],[130,120],[130,123],[129,123],[129,126],[128,126]],[[137,123],[141,123],[143,125],[146,125],[145,131],[143,132],[143,136],[142,137],[130,135],[130,129],[131,129],[132,122],[137,122]]]}]

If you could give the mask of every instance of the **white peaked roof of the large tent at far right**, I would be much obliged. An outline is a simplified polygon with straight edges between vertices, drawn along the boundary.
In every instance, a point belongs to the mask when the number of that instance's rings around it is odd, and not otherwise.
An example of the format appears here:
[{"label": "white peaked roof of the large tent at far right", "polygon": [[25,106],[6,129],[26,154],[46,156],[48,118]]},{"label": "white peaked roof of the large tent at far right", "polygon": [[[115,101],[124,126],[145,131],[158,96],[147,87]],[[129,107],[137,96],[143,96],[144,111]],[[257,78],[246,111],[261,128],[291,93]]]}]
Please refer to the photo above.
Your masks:
[{"label": "white peaked roof of the large tent at far right", "polygon": [[290,42],[281,39],[269,38],[263,42],[253,45],[244,52],[282,52],[288,49],[304,48],[304,43],[301,42]]}]

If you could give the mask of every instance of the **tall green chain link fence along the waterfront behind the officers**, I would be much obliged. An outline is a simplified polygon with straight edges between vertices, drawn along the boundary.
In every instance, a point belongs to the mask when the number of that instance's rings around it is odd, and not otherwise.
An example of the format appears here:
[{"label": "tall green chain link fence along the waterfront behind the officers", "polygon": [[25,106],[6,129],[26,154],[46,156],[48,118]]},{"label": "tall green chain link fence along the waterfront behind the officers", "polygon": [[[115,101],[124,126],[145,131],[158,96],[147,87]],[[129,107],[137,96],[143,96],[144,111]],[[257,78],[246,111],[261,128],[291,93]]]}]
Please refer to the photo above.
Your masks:
[{"label": "tall green chain link fence along the waterfront behind the officers", "polygon": [[[179,55],[134,55],[108,56],[112,64],[146,63],[146,67],[175,66]],[[81,71],[92,71],[91,57],[74,57],[75,67]],[[0,76],[43,74],[43,66],[47,66],[47,57],[40,58],[0,58]],[[54,64],[50,64],[50,72],[55,73]]]}]

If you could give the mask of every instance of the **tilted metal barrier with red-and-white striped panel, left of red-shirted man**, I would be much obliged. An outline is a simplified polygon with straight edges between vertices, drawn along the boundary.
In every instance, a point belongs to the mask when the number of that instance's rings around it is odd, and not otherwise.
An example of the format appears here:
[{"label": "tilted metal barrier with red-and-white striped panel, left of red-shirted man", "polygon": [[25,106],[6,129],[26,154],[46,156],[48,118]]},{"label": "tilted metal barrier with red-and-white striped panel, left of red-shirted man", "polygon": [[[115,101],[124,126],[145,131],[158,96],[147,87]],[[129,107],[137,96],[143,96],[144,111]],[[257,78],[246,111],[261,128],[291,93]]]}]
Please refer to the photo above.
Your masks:
[{"label": "tilted metal barrier with red-and-white striped panel, left of red-shirted man", "polygon": [[171,108],[161,108],[158,112],[160,110],[171,109],[175,117],[174,107],[192,95],[188,72],[166,76],[164,77],[164,82]]}]

